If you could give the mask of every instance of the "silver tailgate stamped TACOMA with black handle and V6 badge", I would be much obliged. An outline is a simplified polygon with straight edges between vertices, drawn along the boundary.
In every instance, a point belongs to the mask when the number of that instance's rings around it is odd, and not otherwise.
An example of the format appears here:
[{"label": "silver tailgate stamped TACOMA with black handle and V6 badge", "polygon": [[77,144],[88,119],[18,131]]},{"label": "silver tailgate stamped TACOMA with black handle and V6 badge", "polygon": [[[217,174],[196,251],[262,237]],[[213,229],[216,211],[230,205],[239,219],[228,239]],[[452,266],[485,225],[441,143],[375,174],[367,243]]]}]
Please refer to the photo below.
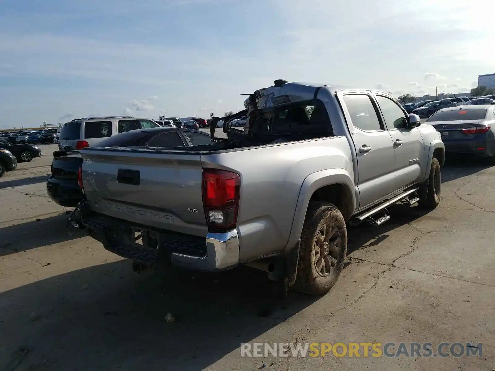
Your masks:
[{"label": "silver tailgate stamped TACOMA with black handle and V6 badge", "polygon": [[206,236],[200,153],[85,148],[81,156],[84,191],[93,211]]}]

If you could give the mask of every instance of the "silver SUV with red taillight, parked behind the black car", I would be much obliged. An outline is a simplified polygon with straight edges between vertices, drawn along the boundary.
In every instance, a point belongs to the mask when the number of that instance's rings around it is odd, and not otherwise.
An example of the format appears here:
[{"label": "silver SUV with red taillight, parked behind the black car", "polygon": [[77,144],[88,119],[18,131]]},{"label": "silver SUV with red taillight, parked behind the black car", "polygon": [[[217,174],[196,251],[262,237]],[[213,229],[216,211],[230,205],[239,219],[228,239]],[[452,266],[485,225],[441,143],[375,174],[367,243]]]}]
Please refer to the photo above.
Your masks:
[{"label": "silver SUV with red taillight, parked behind the black car", "polygon": [[81,149],[129,130],[159,128],[153,120],[132,116],[86,117],[65,123],[58,139],[59,149]]}]

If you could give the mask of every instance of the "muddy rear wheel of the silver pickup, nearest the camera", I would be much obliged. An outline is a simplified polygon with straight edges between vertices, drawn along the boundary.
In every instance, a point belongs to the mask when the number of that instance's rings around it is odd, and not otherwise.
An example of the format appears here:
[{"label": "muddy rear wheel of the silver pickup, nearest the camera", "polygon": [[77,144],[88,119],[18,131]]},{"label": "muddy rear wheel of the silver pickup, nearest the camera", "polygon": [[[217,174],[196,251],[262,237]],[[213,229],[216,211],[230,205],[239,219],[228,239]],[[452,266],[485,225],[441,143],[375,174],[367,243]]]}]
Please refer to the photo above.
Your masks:
[{"label": "muddy rear wheel of the silver pickup, nearest the camera", "polygon": [[340,210],[326,202],[311,202],[301,232],[294,288],[326,294],[337,282],[347,254],[347,227]]}]

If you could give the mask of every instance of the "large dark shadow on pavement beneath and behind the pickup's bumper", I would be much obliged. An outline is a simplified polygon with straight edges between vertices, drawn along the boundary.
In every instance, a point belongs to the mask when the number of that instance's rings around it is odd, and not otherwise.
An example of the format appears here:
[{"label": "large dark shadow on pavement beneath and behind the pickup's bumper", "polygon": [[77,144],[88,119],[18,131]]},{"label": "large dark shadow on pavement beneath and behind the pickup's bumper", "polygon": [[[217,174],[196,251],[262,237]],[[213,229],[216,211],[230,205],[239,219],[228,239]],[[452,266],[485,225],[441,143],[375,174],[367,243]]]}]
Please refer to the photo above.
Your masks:
[{"label": "large dark shadow on pavement beneath and behind the pickup's bumper", "polygon": [[247,267],[136,275],[127,260],[42,279],[0,294],[0,368],[202,370],[319,298],[266,284]]}]

